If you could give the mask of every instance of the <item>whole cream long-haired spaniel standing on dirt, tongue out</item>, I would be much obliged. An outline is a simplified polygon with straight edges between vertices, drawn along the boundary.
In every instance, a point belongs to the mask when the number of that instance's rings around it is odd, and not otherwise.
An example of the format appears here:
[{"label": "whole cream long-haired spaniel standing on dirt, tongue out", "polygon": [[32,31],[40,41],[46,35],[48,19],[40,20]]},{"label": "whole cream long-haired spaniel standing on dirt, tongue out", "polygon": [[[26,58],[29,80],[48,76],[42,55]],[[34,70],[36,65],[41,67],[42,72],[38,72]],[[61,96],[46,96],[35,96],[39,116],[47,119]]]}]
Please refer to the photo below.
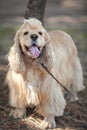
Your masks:
[{"label": "whole cream long-haired spaniel standing on dirt, tongue out", "polygon": [[14,45],[8,54],[7,81],[10,89],[10,105],[15,107],[11,115],[23,117],[27,106],[38,106],[44,117],[41,127],[55,128],[55,116],[62,116],[66,100],[65,91],[43,69],[48,70],[77,100],[77,92],[84,88],[82,68],[72,38],[63,31],[47,32],[35,18],[24,20],[17,31]]}]

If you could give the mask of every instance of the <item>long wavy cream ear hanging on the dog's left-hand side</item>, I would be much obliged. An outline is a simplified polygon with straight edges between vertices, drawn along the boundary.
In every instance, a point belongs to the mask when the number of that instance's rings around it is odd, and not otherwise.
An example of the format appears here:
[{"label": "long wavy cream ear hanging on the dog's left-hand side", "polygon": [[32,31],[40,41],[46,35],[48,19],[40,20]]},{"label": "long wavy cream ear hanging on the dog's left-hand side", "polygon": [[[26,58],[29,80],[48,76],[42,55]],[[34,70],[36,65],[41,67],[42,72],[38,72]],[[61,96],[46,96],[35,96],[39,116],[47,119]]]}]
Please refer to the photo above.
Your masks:
[{"label": "long wavy cream ear hanging on the dog's left-hand side", "polygon": [[23,56],[20,50],[19,42],[19,31],[17,31],[14,38],[14,45],[11,47],[7,59],[12,70],[16,71],[17,73],[24,73],[25,64],[23,61]]}]

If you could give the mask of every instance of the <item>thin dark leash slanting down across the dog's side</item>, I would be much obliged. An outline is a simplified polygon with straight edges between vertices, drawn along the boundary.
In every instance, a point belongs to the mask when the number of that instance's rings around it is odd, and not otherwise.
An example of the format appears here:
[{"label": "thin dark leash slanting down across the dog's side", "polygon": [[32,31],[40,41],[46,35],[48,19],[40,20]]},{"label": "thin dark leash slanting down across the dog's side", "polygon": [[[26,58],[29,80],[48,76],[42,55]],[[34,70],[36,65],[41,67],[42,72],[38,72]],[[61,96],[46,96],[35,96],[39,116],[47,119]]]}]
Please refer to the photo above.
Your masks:
[{"label": "thin dark leash slanting down across the dog's side", "polygon": [[69,94],[71,94],[71,95],[73,96],[73,94],[72,94],[58,79],[55,78],[55,76],[47,69],[47,67],[46,67],[42,62],[40,62],[40,64],[41,64],[41,66],[51,75],[51,77],[52,77],[53,79],[55,79],[55,81],[56,81],[58,84],[60,84],[62,88],[65,89],[66,92],[68,92]]}]

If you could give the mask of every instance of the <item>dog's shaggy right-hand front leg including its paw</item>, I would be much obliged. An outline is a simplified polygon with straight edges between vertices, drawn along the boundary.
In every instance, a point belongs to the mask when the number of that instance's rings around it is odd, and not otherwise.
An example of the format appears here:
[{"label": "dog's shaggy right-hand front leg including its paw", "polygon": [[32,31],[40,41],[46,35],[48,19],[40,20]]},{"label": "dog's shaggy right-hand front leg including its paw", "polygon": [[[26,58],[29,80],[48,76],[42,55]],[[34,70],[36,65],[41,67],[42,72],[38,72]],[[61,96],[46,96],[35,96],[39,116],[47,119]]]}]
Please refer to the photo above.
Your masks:
[{"label": "dog's shaggy right-hand front leg including its paw", "polygon": [[41,123],[42,129],[55,128],[55,116],[62,116],[66,106],[60,87],[56,86],[55,82],[52,82],[49,86],[45,86],[46,89],[42,87],[41,91],[43,98],[38,112],[44,117]]}]

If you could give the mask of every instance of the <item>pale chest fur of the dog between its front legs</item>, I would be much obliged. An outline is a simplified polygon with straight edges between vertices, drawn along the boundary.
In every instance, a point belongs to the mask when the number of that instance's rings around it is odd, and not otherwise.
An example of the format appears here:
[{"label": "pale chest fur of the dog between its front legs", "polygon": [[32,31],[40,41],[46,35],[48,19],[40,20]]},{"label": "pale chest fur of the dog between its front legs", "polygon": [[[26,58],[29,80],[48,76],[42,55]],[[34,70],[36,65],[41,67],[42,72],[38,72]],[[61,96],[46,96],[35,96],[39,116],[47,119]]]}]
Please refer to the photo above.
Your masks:
[{"label": "pale chest fur of the dog between its front legs", "polygon": [[40,104],[40,89],[42,87],[42,83],[44,80],[44,73],[40,70],[37,69],[38,66],[36,65],[28,65],[26,69],[26,100],[27,104],[29,106],[37,106]]}]

